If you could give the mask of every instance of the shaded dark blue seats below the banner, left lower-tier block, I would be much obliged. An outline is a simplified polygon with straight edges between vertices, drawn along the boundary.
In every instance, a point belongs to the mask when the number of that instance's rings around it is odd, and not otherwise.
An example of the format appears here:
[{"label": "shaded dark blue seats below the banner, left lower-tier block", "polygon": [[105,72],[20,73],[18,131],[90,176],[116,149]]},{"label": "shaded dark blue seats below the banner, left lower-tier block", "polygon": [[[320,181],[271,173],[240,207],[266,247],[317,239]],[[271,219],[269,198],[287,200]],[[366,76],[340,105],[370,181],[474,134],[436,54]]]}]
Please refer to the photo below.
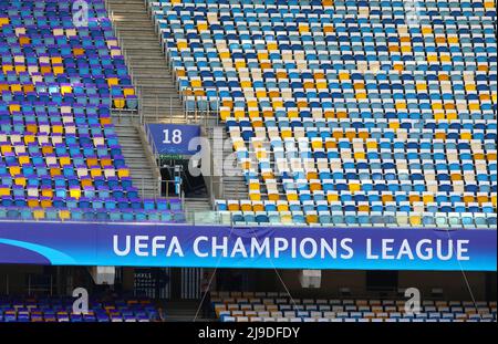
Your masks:
[{"label": "shaded dark blue seats below the banner, left lower-tier block", "polygon": [[73,313],[74,299],[0,298],[0,322],[156,322],[162,314],[151,300],[94,301],[87,314]]}]

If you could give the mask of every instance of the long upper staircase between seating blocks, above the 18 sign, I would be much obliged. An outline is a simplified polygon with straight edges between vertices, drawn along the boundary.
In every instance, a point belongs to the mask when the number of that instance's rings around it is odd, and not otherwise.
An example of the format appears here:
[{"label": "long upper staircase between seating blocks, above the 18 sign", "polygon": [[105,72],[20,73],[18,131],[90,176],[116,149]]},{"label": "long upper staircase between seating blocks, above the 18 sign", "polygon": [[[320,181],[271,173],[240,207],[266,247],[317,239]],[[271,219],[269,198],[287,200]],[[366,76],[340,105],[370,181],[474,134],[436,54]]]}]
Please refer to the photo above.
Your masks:
[{"label": "long upper staircase between seating blocks, above the 18 sign", "polygon": [[108,0],[145,122],[186,123],[184,106],[144,0]]}]

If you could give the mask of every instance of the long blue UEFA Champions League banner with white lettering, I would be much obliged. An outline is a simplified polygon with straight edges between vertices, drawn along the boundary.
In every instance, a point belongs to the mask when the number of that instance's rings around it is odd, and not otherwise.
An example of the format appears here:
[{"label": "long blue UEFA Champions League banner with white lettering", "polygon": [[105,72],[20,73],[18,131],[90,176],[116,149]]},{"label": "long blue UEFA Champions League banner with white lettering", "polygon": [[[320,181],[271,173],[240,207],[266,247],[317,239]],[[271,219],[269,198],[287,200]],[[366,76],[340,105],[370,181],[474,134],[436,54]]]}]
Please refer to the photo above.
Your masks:
[{"label": "long blue UEFA Champions League banner with white lettering", "polygon": [[496,271],[497,231],[3,222],[0,263]]}]

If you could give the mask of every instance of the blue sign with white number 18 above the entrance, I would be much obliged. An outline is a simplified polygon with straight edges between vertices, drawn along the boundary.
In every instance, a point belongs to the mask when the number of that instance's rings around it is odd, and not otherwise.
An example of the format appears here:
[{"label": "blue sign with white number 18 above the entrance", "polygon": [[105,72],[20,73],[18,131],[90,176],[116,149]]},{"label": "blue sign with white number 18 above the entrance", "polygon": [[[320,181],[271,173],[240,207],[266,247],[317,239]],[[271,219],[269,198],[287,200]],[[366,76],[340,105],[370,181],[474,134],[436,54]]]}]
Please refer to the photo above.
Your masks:
[{"label": "blue sign with white number 18 above the entrance", "polygon": [[164,155],[194,155],[199,146],[194,140],[200,137],[200,126],[183,124],[147,124],[157,153]]}]

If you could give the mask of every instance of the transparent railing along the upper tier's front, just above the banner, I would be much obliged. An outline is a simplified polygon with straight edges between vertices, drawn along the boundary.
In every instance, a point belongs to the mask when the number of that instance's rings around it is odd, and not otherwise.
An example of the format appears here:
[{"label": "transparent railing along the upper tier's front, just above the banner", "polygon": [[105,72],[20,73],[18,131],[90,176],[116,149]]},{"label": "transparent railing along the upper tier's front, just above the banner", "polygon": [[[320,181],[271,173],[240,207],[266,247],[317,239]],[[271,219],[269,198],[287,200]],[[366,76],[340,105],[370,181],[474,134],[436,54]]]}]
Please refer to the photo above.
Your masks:
[{"label": "transparent railing along the upper tier's front, just above the banner", "polygon": [[[183,205],[185,207],[185,201]],[[84,217],[79,220],[65,219],[60,217],[61,210],[80,211]],[[146,215],[148,218],[137,220],[111,220],[111,215],[122,213],[120,209],[58,209],[58,208],[0,208],[0,222],[105,222],[105,223],[172,223],[172,225],[191,225],[191,226],[230,226],[230,227],[321,227],[321,228],[421,228],[438,230],[459,230],[459,229],[489,229],[496,230],[497,215],[489,213],[380,213],[361,215],[361,212],[331,212],[329,220],[321,219],[318,222],[310,223],[307,215],[301,215],[302,219],[292,218],[291,212],[266,212],[266,211],[198,211],[198,210],[133,210],[134,215]],[[126,212],[129,215],[129,211]],[[152,215],[170,213],[169,220],[157,220]],[[107,215],[105,219],[100,215]],[[319,215],[321,217],[321,215]],[[422,221],[421,221],[422,220]],[[307,222],[308,221],[308,222]]]}]

